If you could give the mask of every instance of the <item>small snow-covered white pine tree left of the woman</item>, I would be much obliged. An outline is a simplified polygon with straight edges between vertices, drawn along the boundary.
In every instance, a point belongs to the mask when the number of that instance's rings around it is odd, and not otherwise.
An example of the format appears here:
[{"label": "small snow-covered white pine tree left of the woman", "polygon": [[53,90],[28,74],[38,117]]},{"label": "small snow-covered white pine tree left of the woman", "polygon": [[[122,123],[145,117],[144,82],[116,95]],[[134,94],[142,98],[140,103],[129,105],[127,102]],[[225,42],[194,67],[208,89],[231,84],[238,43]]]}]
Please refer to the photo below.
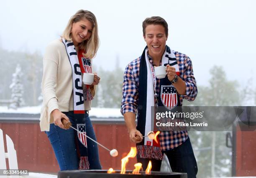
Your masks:
[{"label": "small snow-covered white pine tree left of the woman", "polygon": [[12,92],[10,108],[17,109],[18,107],[24,106],[25,102],[23,100],[23,84],[21,83],[21,76],[23,75],[20,65],[17,64],[15,72],[13,73],[13,81],[10,84],[10,89]]}]

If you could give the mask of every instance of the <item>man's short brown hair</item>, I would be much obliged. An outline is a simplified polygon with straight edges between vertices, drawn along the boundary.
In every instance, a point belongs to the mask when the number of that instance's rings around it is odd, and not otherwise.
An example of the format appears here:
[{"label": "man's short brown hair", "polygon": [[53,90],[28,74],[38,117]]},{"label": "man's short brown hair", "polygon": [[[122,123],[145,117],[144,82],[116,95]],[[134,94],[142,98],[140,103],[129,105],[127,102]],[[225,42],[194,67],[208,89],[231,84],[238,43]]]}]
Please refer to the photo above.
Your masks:
[{"label": "man's short brown hair", "polygon": [[146,27],[148,25],[163,25],[164,27],[164,30],[165,30],[165,35],[168,36],[168,24],[167,22],[159,17],[159,16],[153,16],[153,17],[149,17],[149,18],[146,18],[143,23],[142,23],[142,29],[143,29],[143,36],[145,36],[145,33],[146,33]]}]

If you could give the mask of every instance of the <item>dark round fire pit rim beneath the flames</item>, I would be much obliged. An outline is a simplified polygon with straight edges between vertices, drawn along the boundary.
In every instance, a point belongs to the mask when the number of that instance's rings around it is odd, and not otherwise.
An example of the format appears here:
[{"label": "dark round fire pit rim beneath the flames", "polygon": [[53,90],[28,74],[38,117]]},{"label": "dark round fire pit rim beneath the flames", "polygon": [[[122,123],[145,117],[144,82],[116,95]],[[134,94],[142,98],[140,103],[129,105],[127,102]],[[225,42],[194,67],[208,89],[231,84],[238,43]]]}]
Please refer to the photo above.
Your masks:
[{"label": "dark round fire pit rim beneath the flames", "polygon": [[140,171],[139,174],[132,174],[132,170],[126,170],[125,174],[120,174],[120,170],[108,174],[108,170],[64,170],[59,171],[58,178],[187,178],[186,173],[155,172],[146,174]]}]

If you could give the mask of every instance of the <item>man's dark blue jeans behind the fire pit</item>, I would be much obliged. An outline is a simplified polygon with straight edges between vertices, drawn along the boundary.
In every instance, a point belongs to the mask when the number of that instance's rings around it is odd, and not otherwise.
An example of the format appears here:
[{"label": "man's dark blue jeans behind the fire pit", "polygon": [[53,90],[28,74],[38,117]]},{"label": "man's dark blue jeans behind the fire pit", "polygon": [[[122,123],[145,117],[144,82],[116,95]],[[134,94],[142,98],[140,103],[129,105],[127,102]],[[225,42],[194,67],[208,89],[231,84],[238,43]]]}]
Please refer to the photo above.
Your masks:
[{"label": "man's dark blue jeans behind the fire pit", "polygon": [[[162,151],[162,153],[166,154],[173,172],[187,173],[187,178],[196,178],[197,161],[189,137],[178,147]],[[149,160],[152,163],[152,171],[160,171],[162,160],[138,158],[137,156],[137,162],[142,163],[143,170],[146,170]]]}]

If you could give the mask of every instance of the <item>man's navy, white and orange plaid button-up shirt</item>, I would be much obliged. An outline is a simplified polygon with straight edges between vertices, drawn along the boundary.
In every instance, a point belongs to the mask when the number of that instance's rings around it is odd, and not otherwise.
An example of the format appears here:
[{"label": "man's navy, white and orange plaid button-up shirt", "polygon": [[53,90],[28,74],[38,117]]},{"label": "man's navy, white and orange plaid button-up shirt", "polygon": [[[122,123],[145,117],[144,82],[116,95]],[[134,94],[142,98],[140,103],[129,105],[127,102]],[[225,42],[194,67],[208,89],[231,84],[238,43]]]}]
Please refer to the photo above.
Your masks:
[{"label": "man's navy, white and orange plaid button-up shirt", "polygon": [[[182,99],[193,101],[197,96],[197,86],[193,74],[191,59],[182,53],[174,51],[179,66],[179,77],[186,83],[186,94],[179,95],[180,104]],[[149,62],[154,66],[153,59],[149,57]],[[160,62],[161,65],[161,62]],[[123,80],[123,98],[121,105],[121,114],[125,112],[137,113],[138,107],[138,85],[139,85],[139,69],[140,58],[131,61],[126,66]],[[160,79],[156,79],[156,94],[159,94]],[[164,131],[159,134],[161,150],[171,150],[174,147],[181,145],[188,138],[187,131]]]}]

